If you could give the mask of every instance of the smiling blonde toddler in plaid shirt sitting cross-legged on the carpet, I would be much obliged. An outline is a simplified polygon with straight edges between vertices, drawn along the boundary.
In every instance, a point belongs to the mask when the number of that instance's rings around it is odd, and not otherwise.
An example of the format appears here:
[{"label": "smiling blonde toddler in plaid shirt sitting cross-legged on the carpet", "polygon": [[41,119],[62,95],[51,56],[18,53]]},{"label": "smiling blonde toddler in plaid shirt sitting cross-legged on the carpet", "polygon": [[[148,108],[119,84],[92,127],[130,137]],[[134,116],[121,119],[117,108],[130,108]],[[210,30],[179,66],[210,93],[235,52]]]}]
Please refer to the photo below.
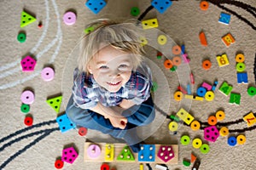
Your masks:
[{"label": "smiling blonde toddler in plaid shirt sitting cross-legged on the carpet", "polygon": [[134,152],[141,139],[136,127],[154,120],[152,75],[143,61],[134,24],[96,20],[81,40],[78,68],[67,116],[78,127],[124,139]]}]

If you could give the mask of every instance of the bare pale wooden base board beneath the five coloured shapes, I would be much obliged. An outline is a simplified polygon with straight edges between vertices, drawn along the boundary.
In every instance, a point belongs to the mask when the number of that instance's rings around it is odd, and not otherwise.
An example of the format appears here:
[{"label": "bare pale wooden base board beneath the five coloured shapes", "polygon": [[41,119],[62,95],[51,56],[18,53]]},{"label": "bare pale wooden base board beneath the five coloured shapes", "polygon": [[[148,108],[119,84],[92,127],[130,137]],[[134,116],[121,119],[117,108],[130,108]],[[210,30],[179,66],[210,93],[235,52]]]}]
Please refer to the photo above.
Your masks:
[{"label": "bare pale wooden base board beneath the five coloured shapes", "polygon": [[[84,143],[84,161],[85,162],[88,162],[88,161],[96,161],[96,162],[110,162],[108,160],[105,160],[105,152],[106,152],[106,143],[97,143],[98,146],[100,146],[101,148],[101,155],[98,156],[98,157],[95,157],[95,158],[91,158],[90,156],[88,156],[87,154],[87,149],[89,148],[90,144],[95,144],[95,143],[92,143],[92,142],[85,142]],[[113,153],[113,161],[118,161],[117,158],[119,156],[119,153],[121,153],[121,151],[124,149],[124,147],[126,146],[127,144],[119,144],[119,143],[116,143],[116,144],[113,144],[113,147],[114,147],[114,153]],[[154,144],[155,145],[155,160],[154,160],[154,163],[159,163],[159,164],[177,164],[177,161],[178,161],[178,145],[177,144]],[[158,151],[160,150],[160,146],[161,145],[165,145],[165,146],[172,146],[172,150],[174,152],[174,157],[172,158],[172,160],[170,161],[162,161],[160,159],[160,157],[157,156],[157,153]],[[136,163],[143,163],[143,161],[138,161],[138,154],[137,153],[133,153],[133,156],[134,156],[134,159],[135,161],[132,161],[132,162],[136,162]],[[112,162],[113,162],[112,161]],[[120,161],[119,162],[131,162],[131,161]]]}]

